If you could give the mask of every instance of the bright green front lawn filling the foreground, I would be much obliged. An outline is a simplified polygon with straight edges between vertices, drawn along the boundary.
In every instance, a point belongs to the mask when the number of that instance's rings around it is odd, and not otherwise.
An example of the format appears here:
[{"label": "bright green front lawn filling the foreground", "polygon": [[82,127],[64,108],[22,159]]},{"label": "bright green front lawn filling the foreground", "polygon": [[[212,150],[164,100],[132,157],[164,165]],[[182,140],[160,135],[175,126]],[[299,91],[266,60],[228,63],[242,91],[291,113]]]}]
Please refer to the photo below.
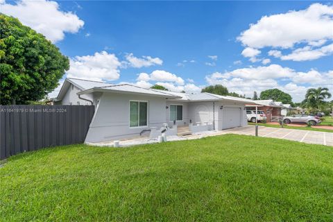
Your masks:
[{"label": "bright green front lawn filling the foreground", "polygon": [[10,157],[1,221],[332,221],[333,148],[222,135]]}]

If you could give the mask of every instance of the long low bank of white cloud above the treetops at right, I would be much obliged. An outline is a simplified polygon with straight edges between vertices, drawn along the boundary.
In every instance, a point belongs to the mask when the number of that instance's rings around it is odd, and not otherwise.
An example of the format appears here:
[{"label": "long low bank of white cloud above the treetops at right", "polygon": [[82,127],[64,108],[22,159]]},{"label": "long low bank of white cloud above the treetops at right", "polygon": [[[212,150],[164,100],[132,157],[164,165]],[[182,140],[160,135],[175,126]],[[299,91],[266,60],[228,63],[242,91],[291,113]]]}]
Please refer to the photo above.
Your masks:
[{"label": "long low bank of white cloud above the treetops at right", "polygon": [[251,96],[254,91],[260,93],[266,89],[278,88],[291,94],[296,102],[304,99],[310,87],[328,87],[333,91],[333,70],[319,72],[311,69],[307,72],[297,72],[288,67],[270,65],[234,69],[224,73],[215,72],[205,78],[209,85],[221,84],[228,87],[230,92],[247,96]]}]

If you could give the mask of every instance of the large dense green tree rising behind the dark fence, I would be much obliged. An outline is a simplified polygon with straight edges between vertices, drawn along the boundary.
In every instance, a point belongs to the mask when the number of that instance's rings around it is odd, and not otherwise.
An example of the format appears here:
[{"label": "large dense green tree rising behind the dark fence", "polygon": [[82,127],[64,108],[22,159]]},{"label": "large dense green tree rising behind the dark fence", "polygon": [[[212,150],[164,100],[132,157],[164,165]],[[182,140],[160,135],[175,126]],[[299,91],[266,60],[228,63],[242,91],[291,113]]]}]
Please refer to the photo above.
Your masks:
[{"label": "large dense green tree rising behind the dark fence", "polygon": [[0,104],[45,98],[68,69],[69,59],[44,35],[0,13]]}]

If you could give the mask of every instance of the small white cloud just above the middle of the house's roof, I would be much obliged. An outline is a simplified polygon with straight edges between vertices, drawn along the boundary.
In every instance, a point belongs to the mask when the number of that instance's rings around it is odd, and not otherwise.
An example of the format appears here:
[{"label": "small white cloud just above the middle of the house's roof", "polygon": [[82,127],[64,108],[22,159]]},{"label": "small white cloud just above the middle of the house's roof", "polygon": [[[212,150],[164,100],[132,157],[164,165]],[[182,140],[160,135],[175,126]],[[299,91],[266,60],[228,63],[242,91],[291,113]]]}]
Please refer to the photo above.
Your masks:
[{"label": "small white cloud just above the middle of the house's roof", "polygon": [[153,80],[153,81],[163,81],[163,82],[173,82],[177,85],[184,85],[185,81],[176,76],[175,74],[171,74],[169,71],[164,70],[155,70],[151,72],[151,74],[141,73],[139,74],[137,80]]}]

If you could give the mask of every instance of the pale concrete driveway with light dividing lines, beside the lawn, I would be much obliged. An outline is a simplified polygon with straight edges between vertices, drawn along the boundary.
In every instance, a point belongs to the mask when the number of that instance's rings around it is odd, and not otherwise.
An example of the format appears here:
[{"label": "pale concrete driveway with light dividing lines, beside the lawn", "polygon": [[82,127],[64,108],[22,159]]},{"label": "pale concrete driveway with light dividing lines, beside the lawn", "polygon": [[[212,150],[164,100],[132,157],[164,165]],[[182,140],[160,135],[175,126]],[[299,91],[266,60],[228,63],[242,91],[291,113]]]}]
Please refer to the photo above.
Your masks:
[{"label": "pale concrete driveway with light dividing lines, beside the lawn", "polygon": [[[230,130],[224,130],[224,132],[240,135],[255,135],[255,126],[233,128]],[[327,146],[333,146],[333,133],[259,126],[258,135],[259,137],[289,139],[293,141],[304,142],[307,144],[322,144]]]}]

